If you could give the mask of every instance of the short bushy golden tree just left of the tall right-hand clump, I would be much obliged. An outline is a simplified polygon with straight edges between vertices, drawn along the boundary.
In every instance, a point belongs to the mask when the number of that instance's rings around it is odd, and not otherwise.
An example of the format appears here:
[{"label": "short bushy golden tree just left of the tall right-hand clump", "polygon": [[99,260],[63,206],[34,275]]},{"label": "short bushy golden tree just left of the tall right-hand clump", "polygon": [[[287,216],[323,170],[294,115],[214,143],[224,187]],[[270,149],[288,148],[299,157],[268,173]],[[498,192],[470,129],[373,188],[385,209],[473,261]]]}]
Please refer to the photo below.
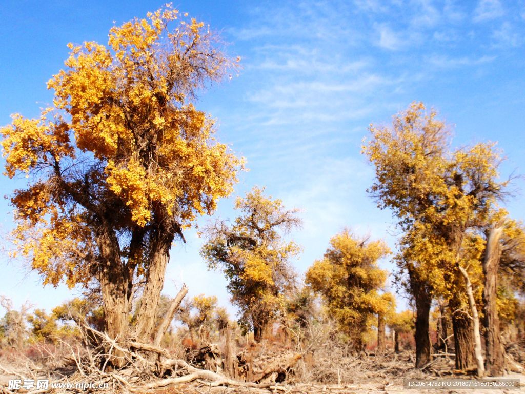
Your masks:
[{"label": "short bushy golden tree just left of the tall right-hand clump", "polygon": [[393,296],[381,294],[387,272],[377,266],[377,260],[388,254],[383,240],[370,241],[344,230],[332,237],[322,260],[306,272],[306,283],[321,294],[328,313],[358,351],[372,319],[379,315],[376,322],[381,336],[384,318],[394,308]]}]

